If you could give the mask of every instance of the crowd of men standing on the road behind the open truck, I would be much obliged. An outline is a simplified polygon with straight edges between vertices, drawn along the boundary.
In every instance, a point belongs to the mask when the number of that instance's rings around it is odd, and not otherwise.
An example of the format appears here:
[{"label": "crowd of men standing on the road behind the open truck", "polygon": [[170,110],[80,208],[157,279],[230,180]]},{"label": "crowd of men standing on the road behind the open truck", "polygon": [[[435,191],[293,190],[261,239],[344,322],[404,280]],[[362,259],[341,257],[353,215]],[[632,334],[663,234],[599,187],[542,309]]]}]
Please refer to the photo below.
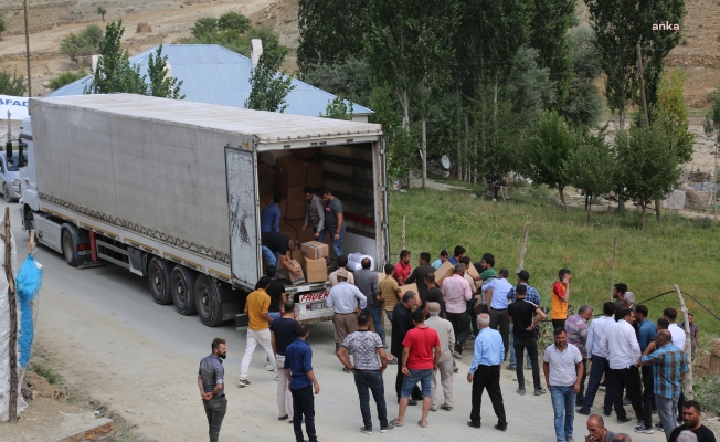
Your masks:
[{"label": "crowd of men standing on the road behind the open truck", "polygon": [[[454,265],[453,274],[443,275],[438,287],[435,272],[446,261]],[[403,251],[395,265],[385,265],[380,282],[369,259],[363,260],[362,269],[356,272],[346,269],[343,256],[337,262],[327,305],[333,309],[337,357],[342,370],[354,378],[362,417],[360,431],[366,434],[374,430],[370,396],[375,402],[381,433],[407,424],[409,407],[419,403],[422,406],[416,423],[421,428],[428,427],[431,411],[452,411],[453,373],[458,371],[455,359],[463,359],[463,350],[472,348],[467,373],[467,381],[472,383],[472,411],[467,421],[470,428],[481,427],[481,398],[487,390],[497,417],[494,428],[508,429],[500,371],[502,364],[508,361],[507,368],[517,375],[517,393],[525,396],[527,357],[534,396],[550,393],[558,442],[574,441],[575,412],[589,415],[586,442],[632,441],[628,434],[615,434],[605,429],[600,414],[591,415],[601,388],[605,389],[603,414],[610,417],[614,410],[618,423],[629,422],[633,419],[625,404],[632,406],[637,420],[635,432],[665,431],[668,442],[716,442],[713,433],[700,423],[700,404],[686,401],[681,393],[688,367],[686,334],[676,324],[677,311],[666,308],[661,318],[652,323],[648,308],[635,305],[635,296],[625,284],[615,285],[616,302],[604,303],[602,315],[593,318],[590,305],[581,305],[575,314],[568,315],[572,280],[568,269],[559,271],[558,281],[550,290],[547,314],[540,293],[529,283],[527,271],[519,271],[517,283],[512,285],[506,269],[494,270],[491,254],[486,253],[481,261],[473,264],[459,245],[452,257],[443,251],[432,264],[430,253],[421,253],[414,269],[411,253]],[[319,393],[320,386],[314,375],[313,351],[307,343],[309,328],[296,320],[295,304],[287,298],[284,288],[273,287],[275,272],[276,269],[269,266],[266,276],[247,297],[245,312],[250,325],[239,385],[250,386],[250,359],[260,344],[268,355],[266,369],[275,371],[278,380],[278,419],[294,424],[298,442],[306,440],[301,427],[305,423],[308,440],[315,442],[314,394]],[[417,285],[417,293],[402,292],[400,287],[409,283]],[[389,344],[383,311],[391,324]],[[544,349],[541,371],[539,323],[547,316],[552,322],[553,344]],[[690,326],[693,326],[691,319]],[[697,326],[691,329],[696,345]],[[216,441],[226,409],[222,367],[226,355],[224,341],[215,339],[212,350],[201,362],[198,385],[208,413],[210,440]],[[383,373],[388,365],[396,365],[395,419],[389,418],[385,402]],[[657,422],[654,425],[655,412]]]}]

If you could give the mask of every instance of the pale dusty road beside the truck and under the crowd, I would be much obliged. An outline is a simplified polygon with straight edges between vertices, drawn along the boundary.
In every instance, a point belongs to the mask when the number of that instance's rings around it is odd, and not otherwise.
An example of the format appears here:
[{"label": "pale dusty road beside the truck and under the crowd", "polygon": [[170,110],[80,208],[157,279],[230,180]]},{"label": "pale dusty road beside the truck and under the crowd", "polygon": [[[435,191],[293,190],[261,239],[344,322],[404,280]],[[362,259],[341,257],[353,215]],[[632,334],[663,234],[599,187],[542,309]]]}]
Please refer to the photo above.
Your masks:
[{"label": "pale dusty road beside the truck and under the crowd", "polygon": [[[4,202],[1,204],[4,209]],[[24,249],[27,234],[20,231],[17,203],[10,204],[13,233]],[[107,403],[138,427],[151,440],[201,441],[207,438],[207,421],[199,400],[197,370],[200,358],[210,352],[215,336],[227,339],[225,361],[229,412],[221,432],[222,441],[292,441],[292,425],[277,421],[276,381],[264,370],[262,349],[251,365],[252,387],[240,389],[236,379],[245,347],[245,337],[233,325],[204,327],[194,316],[176,313],[172,305],[152,302],[145,278],[117,266],[76,270],[43,246],[38,261],[44,265],[38,341],[62,360],[67,381]],[[321,441],[356,441],[361,418],[351,375],[341,371],[332,351],[330,324],[311,327],[314,366],[321,386],[316,397],[317,429]],[[465,380],[467,364],[458,362],[455,377],[455,407],[447,412],[431,412],[428,429],[414,424],[420,409],[411,407],[406,425],[372,438],[384,441],[494,438],[497,441],[553,441],[552,407],[549,394],[518,396],[516,383],[502,380],[507,432],[493,429],[496,423],[489,399],[483,408],[486,427],[466,425],[470,411],[470,387]],[[389,417],[396,415],[394,367],[384,376]],[[126,410],[131,410],[127,412]],[[377,417],[373,409],[373,417]],[[638,442],[664,442],[664,433],[636,434],[629,423],[618,425],[607,419],[613,431],[632,433]],[[575,419],[575,440],[582,441],[584,417]],[[378,427],[378,423],[375,423]]]}]

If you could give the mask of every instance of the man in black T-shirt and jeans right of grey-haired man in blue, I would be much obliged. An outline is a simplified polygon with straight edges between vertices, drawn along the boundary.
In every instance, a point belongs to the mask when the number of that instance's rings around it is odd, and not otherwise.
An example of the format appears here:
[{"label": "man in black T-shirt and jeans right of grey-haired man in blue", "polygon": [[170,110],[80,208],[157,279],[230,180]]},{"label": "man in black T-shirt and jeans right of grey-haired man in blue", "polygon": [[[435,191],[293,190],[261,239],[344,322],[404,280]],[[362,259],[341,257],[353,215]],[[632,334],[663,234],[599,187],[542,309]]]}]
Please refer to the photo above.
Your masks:
[{"label": "man in black T-shirt and jeans right of grey-haired man in blue", "polygon": [[[515,288],[516,302],[508,306],[508,312],[510,314],[510,323],[512,323],[515,352],[520,361],[522,361],[522,355],[526,349],[528,350],[528,355],[530,355],[530,367],[532,367],[534,396],[540,396],[544,394],[546,391],[540,383],[538,339],[534,335],[534,327],[547,315],[536,304],[525,299],[527,291],[527,285],[518,284]],[[525,396],[525,372],[522,371],[522,364],[516,367],[515,373],[518,377],[518,394]]]}]

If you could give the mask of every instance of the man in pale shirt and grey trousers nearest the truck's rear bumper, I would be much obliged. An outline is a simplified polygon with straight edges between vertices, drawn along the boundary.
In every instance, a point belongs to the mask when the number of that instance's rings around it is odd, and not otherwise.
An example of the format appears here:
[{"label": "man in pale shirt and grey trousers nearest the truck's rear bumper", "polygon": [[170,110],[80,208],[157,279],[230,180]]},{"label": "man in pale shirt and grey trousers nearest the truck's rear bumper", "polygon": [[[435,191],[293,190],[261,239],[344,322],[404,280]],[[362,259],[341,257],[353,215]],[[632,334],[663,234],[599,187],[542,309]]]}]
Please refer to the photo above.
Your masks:
[{"label": "man in pale shirt and grey trousers nearest the truck's rear bumper", "polygon": [[[368,299],[358,287],[348,284],[348,271],[338,269],[338,285],[330,288],[327,303],[335,312],[336,341],[342,344],[349,334],[358,330],[358,314],[367,307]],[[342,371],[350,372],[346,367]]]}]

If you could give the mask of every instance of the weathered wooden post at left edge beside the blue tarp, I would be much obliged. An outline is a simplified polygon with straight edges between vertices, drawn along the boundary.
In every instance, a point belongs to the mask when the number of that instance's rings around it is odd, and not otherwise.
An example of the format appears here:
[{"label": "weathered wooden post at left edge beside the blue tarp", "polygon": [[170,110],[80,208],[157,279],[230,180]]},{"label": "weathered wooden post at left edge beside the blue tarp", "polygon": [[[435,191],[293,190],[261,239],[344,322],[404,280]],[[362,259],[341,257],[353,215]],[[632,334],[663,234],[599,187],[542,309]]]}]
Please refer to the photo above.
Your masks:
[{"label": "weathered wooden post at left edge beside the blue tarp", "polygon": [[6,208],[4,236],[6,243],[6,276],[8,277],[8,304],[10,307],[10,402],[8,421],[18,423],[18,301],[15,293],[15,276],[12,269],[12,236],[10,234],[10,208]]}]

